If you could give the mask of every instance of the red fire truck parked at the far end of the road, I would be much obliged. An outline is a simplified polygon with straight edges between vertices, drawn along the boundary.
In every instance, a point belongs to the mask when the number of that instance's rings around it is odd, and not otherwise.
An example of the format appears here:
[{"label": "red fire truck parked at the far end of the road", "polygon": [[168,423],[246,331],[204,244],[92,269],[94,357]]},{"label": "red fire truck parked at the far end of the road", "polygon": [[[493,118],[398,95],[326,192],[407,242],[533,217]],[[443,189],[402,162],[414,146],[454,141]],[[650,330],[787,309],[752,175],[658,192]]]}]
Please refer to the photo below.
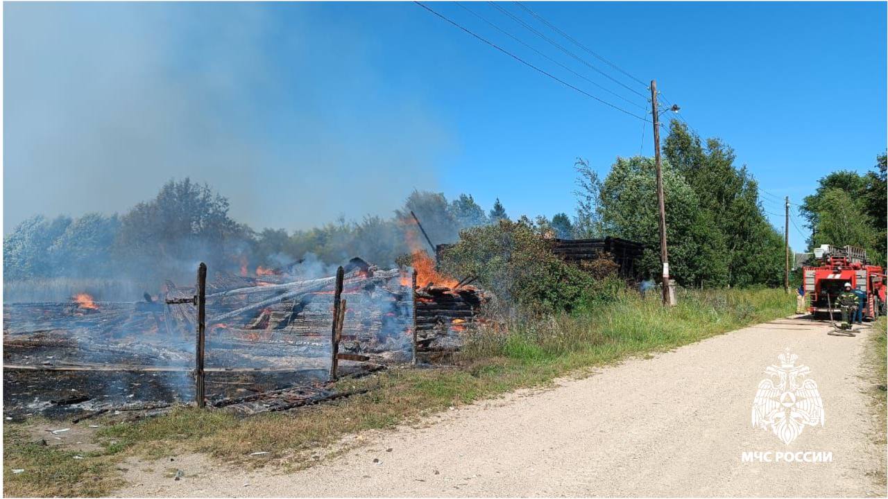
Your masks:
[{"label": "red fire truck parked at the far end of the road", "polygon": [[875,320],[885,313],[885,273],[878,265],[869,265],[864,249],[845,246],[839,248],[824,244],[814,249],[814,259],[819,266],[803,267],[802,281],[805,297],[811,304],[808,312],[814,315],[841,313],[836,297],[842,294],[845,282],[867,294],[863,317]]}]

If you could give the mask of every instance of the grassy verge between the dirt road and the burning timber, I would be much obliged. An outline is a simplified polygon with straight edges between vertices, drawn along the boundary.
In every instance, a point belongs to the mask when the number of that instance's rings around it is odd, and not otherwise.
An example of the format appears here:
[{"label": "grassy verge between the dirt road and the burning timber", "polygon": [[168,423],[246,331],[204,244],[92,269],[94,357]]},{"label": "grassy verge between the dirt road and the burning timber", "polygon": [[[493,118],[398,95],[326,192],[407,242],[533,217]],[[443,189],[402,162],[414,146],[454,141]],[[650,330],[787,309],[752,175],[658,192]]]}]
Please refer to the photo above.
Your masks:
[{"label": "grassy verge between the dirt road and the burning timber", "polygon": [[[107,494],[115,487],[114,466],[107,463],[123,456],[185,452],[242,465],[310,466],[322,459],[319,446],[346,435],[417,424],[423,416],[450,407],[519,388],[547,386],[559,376],[583,376],[591,368],[633,355],[668,351],[786,316],[795,307],[781,289],[686,291],[679,305],[669,309],[659,300],[627,293],[584,311],[482,329],[468,339],[456,367],[392,368],[375,376],[343,379],[337,390],[369,392],[321,406],[247,418],[178,408],[147,421],[112,424],[97,433],[104,452],[83,455],[76,464],[69,463],[70,458],[46,455],[45,448],[13,447],[14,456],[5,451],[4,456],[19,463],[14,467],[33,466],[38,459],[50,470],[64,463],[64,470],[70,470],[63,475],[67,485],[50,489],[25,479],[25,473],[11,475],[9,466],[4,466],[4,483],[17,487],[12,488],[17,495]],[[5,433],[4,441],[9,442]],[[271,454],[250,457],[259,451]]]}]

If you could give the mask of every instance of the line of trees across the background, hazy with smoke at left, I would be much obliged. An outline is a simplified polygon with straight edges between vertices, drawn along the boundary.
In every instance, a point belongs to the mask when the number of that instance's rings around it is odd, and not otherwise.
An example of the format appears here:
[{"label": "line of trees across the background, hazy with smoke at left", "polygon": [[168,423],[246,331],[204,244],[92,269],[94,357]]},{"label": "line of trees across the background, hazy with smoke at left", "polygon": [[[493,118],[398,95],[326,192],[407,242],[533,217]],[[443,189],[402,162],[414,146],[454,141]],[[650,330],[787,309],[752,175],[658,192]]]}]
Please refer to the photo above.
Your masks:
[{"label": "line of trees across the background, hazy with smoke at left", "polygon": [[[662,152],[670,274],[680,284],[694,287],[780,285],[783,236],[765,218],[757,181],[745,166],[734,164],[733,149],[719,139],[704,141],[673,121]],[[885,227],[884,164],[883,154],[875,172],[838,171],[821,179],[800,211],[813,228],[809,245],[853,244],[884,257],[880,243]],[[154,199],[139,202],[122,215],[28,218],[4,237],[5,275],[7,280],[190,279],[198,261],[239,273],[306,256],[328,264],[360,256],[377,265],[396,265],[411,251],[408,239],[427,246],[422,236],[417,237],[413,211],[434,244],[460,241],[462,233],[464,241],[502,242],[498,249],[466,249],[463,255],[489,259],[491,251],[500,251],[501,260],[517,262],[523,256],[506,242],[520,241],[519,246],[535,255],[527,258],[527,265],[544,261],[551,274],[569,274],[572,282],[574,273],[555,269],[549,258],[539,257],[540,249],[527,242],[527,234],[541,239],[611,235],[641,242],[646,249],[639,268],[644,277],[655,278],[660,258],[653,159],[618,157],[604,178],[585,160],[575,166],[573,216],[512,219],[498,199],[485,210],[471,194],[448,200],[441,193],[415,191],[391,217],[339,218],[295,231],[254,230],[231,218],[228,201],[210,186],[189,178],[170,180]],[[483,234],[478,232],[482,228]],[[527,274],[539,275],[537,270]],[[503,274],[496,279],[502,285],[511,277]]]}]

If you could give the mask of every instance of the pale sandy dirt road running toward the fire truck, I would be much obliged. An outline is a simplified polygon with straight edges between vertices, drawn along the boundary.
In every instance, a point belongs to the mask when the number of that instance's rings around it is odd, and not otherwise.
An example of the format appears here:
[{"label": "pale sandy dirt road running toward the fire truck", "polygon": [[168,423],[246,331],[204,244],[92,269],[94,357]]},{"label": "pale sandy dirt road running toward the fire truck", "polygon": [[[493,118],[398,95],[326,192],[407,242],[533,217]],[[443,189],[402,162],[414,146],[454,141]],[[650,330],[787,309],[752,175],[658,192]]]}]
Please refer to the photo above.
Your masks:
[{"label": "pale sandy dirt road running toward the fire truck", "polygon": [[[365,435],[369,445],[288,475],[218,470],[200,456],[177,458],[180,481],[135,467],[118,494],[884,496],[869,333],[827,330],[789,319],[741,329],[453,410],[422,429]],[[789,445],[750,424],[765,368],[780,365],[784,348],[811,368],[825,412],[824,425]],[[832,462],[741,460],[787,450],[831,452]]]}]

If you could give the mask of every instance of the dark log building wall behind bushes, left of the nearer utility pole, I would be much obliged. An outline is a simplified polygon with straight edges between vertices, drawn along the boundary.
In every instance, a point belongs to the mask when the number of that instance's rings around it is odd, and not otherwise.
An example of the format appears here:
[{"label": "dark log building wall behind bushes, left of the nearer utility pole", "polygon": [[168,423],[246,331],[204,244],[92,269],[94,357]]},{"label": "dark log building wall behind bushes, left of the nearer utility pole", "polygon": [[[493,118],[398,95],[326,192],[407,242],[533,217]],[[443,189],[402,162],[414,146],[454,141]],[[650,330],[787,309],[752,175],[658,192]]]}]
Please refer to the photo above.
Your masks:
[{"label": "dark log building wall behind bushes, left of the nearer utility pole", "polygon": [[568,262],[592,261],[607,255],[618,265],[620,277],[638,280],[638,259],[644,246],[619,237],[604,239],[553,239],[552,252]]}]

